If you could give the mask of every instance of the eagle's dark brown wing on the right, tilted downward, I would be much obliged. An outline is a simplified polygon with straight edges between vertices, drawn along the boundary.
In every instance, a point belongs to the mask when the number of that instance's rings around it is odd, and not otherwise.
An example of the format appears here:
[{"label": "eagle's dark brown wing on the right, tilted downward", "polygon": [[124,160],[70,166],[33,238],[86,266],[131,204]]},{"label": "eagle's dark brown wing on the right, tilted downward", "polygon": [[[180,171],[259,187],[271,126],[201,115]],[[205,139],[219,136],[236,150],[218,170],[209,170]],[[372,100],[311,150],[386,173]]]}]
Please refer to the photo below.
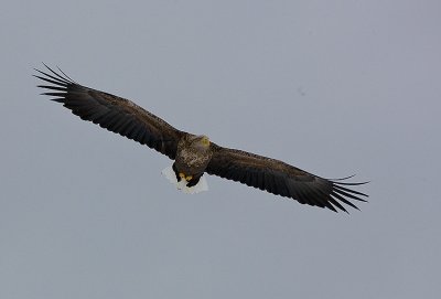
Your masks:
[{"label": "eagle's dark brown wing on the right, tilted downward", "polygon": [[206,169],[208,174],[335,212],[336,207],[347,212],[342,203],[358,209],[351,200],[365,202],[362,197],[367,196],[348,188],[364,183],[326,180],[279,160],[223,148],[215,143],[212,143],[212,147],[213,157]]}]

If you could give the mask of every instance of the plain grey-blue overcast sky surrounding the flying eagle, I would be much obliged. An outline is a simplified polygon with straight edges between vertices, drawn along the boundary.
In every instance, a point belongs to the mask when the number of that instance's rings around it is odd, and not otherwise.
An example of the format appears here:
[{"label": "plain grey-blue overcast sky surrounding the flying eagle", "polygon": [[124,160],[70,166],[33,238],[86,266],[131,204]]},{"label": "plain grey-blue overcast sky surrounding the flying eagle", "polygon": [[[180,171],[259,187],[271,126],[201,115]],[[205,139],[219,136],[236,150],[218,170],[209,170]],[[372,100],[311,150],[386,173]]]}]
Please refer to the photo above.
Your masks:
[{"label": "plain grey-blue overcast sky surrounding the flying eagle", "polygon": [[[2,1],[0,298],[439,298],[441,2]],[[41,62],[325,178],[333,213],[208,177],[40,96]]]}]

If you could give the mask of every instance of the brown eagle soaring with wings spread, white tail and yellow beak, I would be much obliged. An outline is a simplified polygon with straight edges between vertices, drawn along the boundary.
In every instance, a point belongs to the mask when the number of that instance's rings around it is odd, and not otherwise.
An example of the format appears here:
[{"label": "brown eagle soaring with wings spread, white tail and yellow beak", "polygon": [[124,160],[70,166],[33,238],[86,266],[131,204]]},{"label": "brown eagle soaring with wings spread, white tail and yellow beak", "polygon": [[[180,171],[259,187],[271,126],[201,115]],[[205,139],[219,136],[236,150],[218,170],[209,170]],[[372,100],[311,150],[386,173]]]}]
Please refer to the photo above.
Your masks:
[{"label": "brown eagle soaring with wings spread, white tail and yellow beak", "polygon": [[366,202],[366,194],[352,186],[365,184],[329,180],[282,161],[237,149],[220,147],[204,135],[175,129],[158,116],[131,100],[83,86],[63,71],[39,71],[35,77],[49,89],[43,95],[62,103],[74,115],[152,148],[173,164],[163,174],[186,193],[207,190],[204,173],[240,182],[299,203],[347,212],[343,204],[358,209],[353,202]]}]

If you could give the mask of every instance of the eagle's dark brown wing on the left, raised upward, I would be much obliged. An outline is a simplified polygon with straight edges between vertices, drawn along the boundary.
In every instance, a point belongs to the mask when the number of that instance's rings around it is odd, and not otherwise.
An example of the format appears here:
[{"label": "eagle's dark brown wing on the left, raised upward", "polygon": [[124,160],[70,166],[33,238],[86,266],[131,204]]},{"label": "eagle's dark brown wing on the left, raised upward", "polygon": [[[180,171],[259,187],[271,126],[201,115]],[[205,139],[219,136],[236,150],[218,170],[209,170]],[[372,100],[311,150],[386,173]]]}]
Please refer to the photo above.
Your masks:
[{"label": "eagle's dark brown wing on the left, raised upward", "polygon": [[147,145],[157,151],[175,159],[178,141],[185,134],[161,118],[144,110],[135,103],[100,90],[88,88],[71,79],[58,68],[57,73],[44,65],[47,71],[39,72],[35,77],[50,85],[39,85],[50,89],[43,95],[53,96],[52,100],[63,103],[64,107],[84,120],[98,124],[109,131]]}]

